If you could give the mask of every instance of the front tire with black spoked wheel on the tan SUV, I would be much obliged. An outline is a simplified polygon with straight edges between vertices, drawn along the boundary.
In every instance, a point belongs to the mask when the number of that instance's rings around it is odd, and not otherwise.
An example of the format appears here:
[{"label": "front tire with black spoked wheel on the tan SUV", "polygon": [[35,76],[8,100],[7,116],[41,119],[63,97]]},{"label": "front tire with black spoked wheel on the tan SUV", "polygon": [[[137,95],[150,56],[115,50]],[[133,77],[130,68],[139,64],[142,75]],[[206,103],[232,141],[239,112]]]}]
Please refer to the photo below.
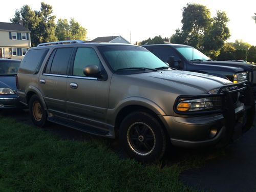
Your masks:
[{"label": "front tire with black spoked wheel on the tan SUV", "polygon": [[146,112],[134,112],[123,119],[119,142],[129,157],[145,163],[160,160],[166,150],[161,124]]}]

